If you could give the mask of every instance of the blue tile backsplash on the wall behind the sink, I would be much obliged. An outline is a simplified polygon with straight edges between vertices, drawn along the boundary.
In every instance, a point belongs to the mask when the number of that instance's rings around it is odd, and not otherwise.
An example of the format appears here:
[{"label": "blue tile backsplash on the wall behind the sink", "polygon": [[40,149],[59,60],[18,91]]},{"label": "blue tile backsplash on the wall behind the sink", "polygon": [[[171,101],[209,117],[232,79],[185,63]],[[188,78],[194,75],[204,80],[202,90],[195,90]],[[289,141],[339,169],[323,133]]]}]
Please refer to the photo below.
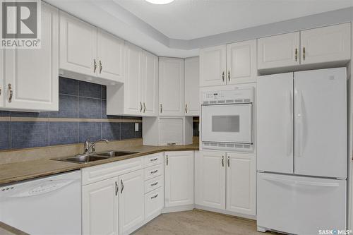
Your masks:
[{"label": "blue tile backsplash on the wall behind the sink", "polygon": [[[83,143],[86,138],[90,138],[90,141],[100,138],[108,140],[142,138],[142,123],[138,123],[139,131],[135,131],[133,121],[136,119],[140,121],[141,118],[107,116],[106,99],[107,88],[104,85],[60,77],[59,112],[0,111],[0,117],[9,117],[9,121],[7,119],[0,121],[0,150]],[[11,120],[15,117],[44,119]],[[59,119],[49,121],[50,118]],[[72,119],[92,120],[79,122]],[[109,122],[107,119],[133,120]]]}]

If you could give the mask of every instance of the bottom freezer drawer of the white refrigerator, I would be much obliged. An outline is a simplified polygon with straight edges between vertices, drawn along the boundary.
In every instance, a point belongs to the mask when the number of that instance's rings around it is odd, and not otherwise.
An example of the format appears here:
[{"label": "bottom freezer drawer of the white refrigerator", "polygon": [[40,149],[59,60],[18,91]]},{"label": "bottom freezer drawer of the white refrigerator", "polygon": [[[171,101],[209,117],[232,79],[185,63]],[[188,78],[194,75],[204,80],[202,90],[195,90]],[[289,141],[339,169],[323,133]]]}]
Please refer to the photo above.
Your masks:
[{"label": "bottom freezer drawer of the white refrigerator", "polygon": [[290,234],[346,229],[346,181],[258,173],[258,227]]}]

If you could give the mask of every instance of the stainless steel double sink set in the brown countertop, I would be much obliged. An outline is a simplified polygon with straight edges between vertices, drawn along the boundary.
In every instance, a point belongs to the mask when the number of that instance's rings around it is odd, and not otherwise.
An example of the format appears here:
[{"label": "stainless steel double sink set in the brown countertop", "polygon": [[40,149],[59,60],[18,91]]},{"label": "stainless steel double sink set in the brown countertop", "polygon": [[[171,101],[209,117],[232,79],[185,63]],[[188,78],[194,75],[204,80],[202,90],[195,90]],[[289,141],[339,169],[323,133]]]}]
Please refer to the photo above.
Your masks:
[{"label": "stainless steel double sink set in the brown countertop", "polygon": [[74,163],[88,163],[95,162],[102,159],[108,159],[112,157],[124,157],[126,155],[133,155],[138,152],[129,152],[129,151],[108,151],[108,152],[92,152],[90,154],[76,155],[73,157],[64,157],[64,158],[55,158],[53,160],[62,161],[62,162],[74,162]]}]

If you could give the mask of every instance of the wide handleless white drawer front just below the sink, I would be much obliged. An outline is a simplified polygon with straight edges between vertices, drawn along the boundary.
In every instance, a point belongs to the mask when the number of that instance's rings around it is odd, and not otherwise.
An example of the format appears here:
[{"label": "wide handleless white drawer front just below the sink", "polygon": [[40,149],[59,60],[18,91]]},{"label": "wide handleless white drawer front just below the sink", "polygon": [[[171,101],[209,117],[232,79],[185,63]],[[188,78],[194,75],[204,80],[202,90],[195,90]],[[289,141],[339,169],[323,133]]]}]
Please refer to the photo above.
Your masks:
[{"label": "wide handleless white drawer front just below the sink", "polygon": [[143,169],[143,157],[134,157],[118,162],[84,168],[81,169],[82,185],[84,186],[97,181],[102,181],[138,169]]}]

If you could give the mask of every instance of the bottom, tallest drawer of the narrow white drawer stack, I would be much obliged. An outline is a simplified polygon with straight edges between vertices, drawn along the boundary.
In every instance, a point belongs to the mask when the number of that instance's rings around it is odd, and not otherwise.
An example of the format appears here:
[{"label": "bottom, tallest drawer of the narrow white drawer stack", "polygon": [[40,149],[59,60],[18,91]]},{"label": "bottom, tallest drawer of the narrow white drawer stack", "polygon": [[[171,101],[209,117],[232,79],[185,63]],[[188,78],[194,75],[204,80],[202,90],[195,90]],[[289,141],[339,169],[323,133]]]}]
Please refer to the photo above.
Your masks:
[{"label": "bottom, tallest drawer of the narrow white drawer stack", "polygon": [[163,188],[145,194],[145,219],[160,215],[164,205]]}]

